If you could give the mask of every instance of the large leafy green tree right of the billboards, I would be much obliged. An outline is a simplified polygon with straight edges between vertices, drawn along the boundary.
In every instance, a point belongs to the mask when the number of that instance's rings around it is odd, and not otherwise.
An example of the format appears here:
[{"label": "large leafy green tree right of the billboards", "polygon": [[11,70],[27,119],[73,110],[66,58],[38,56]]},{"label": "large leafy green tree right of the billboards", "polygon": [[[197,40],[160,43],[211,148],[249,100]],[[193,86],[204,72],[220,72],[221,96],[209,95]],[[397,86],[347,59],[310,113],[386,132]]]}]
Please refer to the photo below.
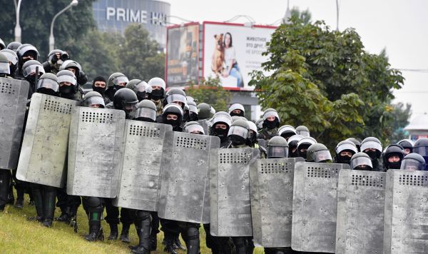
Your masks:
[{"label": "large leafy green tree right of the billboards", "polygon": [[[331,31],[323,21],[307,24],[292,16],[267,44],[263,75],[251,84],[263,108],[276,108],[282,123],[305,125],[327,146],[351,136],[388,142],[394,124],[390,101],[404,78],[387,56],[368,54],[354,29]],[[403,118],[409,117],[404,111]]]}]

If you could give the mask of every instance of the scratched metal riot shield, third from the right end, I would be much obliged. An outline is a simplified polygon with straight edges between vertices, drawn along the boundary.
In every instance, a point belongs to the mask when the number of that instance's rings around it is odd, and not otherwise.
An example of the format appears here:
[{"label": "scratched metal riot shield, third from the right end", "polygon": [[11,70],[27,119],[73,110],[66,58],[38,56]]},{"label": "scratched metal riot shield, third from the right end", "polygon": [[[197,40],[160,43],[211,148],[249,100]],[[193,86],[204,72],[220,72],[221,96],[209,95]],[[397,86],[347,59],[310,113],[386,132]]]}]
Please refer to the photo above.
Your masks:
[{"label": "scratched metal riot shield, third from the right end", "polygon": [[297,251],[335,252],[337,180],[347,164],[295,166],[291,247]]}]

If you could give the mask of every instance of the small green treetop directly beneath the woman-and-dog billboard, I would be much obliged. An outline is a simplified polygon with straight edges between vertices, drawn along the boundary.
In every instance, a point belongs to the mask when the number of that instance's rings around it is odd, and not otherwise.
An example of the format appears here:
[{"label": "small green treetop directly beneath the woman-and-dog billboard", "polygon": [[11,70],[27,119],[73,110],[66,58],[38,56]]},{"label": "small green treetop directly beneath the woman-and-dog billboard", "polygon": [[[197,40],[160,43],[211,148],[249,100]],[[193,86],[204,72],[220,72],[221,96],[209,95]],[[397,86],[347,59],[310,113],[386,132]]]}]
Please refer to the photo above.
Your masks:
[{"label": "small green treetop directly beneath the woman-and-dog billboard", "polygon": [[198,100],[198,103],[208,103],[215,108],[215,111],[228,111],[228,105],[232,95],[230,91],[224,90],[218,78],[208,78],[200,81],[196,86],[190,83],[185,94]]}]

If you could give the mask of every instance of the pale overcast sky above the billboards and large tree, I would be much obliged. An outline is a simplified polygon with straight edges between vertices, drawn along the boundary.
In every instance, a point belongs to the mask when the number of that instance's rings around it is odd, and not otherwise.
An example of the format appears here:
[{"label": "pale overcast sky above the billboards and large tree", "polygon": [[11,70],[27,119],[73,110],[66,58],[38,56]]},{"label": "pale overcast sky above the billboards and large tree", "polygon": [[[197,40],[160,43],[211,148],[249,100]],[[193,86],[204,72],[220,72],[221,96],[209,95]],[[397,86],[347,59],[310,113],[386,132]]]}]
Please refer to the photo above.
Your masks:
[{"label": "pale overcast sky above the billboards and large tree", "polygon": [[[226,21],[236,15],[253,17],[258,24],[272,24],[282,18],[287,0],[166,0],[170,14],[191,21]],[[290,0],[290,9],[309,9],[312,20],[325,20],[336,28],[335,0]],[[395,101],[412,103],[412,118],[428,113],[428,1],[426,0],[340,0],[339,29],[353,27],[365,48],[378,54],[387,49],[392,68],[403,71],[404,88],[394,91]],[[182,21],[171,19],[173,23]],[[244,23],[241,18],[235,23]]]}]

